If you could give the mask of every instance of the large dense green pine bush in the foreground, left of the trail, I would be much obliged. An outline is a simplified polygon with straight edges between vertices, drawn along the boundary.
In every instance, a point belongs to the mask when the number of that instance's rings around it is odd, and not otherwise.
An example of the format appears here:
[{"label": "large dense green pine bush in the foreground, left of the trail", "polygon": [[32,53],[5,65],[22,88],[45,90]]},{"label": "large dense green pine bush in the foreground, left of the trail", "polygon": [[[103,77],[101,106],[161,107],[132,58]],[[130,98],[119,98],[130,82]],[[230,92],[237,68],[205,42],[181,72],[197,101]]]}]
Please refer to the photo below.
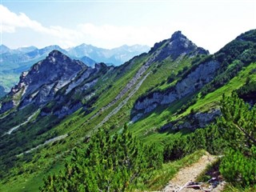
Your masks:
[{"label": "large dense green pine bush in the foreground, left of the trail", "polygon": [[162,166],[162,150],[144,146],[125,126],[122,134],[99,130],[86,149],[76,148],[64,171],[45,179],[41,191],[124,191]]}]

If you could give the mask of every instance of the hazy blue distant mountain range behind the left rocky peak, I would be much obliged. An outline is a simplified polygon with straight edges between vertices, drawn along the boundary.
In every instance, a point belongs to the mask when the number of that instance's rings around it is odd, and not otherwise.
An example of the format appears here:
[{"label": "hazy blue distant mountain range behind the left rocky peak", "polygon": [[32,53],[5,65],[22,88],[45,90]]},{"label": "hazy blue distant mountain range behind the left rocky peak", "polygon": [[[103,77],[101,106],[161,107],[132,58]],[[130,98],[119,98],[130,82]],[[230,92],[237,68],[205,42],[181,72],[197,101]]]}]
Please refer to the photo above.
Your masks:
[{"label": "hazy blue distant mountain range behind the left rocky peak", "polygon": [[133,58],[135,55],[142,54],[150,50],[149,46],[120,46],[111,50],[96,46],[82,44],[69,49],[62,49],[60,46],[46,46],[38,49],[35,46],[20,47],[11,50],[5,45],[0,46],[0,98],[10,91],[10,88],[18,82],[19,74],[30,69],[35,62],[46,58],[52,50],[59,50],[70,58],[80,60],[86,66],[94,67],[97,62],[105,62],[108,66],[119,66]]}]

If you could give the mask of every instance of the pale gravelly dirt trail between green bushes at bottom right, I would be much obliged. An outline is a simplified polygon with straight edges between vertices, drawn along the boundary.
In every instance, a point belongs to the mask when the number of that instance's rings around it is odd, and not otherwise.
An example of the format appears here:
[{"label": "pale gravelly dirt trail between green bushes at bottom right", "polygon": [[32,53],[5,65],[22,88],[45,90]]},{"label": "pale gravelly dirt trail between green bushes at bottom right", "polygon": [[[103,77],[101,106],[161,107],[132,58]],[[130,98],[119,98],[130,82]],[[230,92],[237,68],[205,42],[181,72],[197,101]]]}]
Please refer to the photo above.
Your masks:
[{"label": "pale gravelly dirt trail between green bushes at bottom right", "polygon": [[[214,162],[217,159],[217,157],[214,157],[211,154],[205,154],[198,160],[198,162],[195,162],[191,166],[184,167],[181,170],[178,171],[178,174],[170,180],[168,185],[162,190],[163,192],[176,192],[176,191],[182,191],[182,192],[190,192],[190,191],[203,191],[203,190],[194,190],[191,188],[183,188],[180,190],[182,186],[186,184],[186,182],[194,182],[195,178],[198,177],[200,173],[202,173],[203,170],[206,169],[206,166],[210,163]],[[217,186],[212,191],[221,191],[222,185]]]}]

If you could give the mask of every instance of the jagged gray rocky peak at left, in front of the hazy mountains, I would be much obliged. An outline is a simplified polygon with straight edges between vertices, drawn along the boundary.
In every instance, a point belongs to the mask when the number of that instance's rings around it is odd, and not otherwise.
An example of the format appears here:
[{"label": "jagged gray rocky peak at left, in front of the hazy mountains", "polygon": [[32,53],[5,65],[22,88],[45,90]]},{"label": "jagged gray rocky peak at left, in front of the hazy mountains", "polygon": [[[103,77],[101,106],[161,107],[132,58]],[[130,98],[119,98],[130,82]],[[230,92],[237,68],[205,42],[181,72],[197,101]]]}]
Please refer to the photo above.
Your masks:
[{"label": "jagged gray rocky peak at left, in front of the hazy mountains", "polygon": [[50,101],[58,90],[75,78],[79,71],[86,68],[87,66],[82,62],[72,60],[58,50],[50,52],[46,59],[22,73],[18,85],[9,93],[13,101],[3,102],[0,112],[10,110],[18,104],[23,107],[33,102],[40,106]]}]

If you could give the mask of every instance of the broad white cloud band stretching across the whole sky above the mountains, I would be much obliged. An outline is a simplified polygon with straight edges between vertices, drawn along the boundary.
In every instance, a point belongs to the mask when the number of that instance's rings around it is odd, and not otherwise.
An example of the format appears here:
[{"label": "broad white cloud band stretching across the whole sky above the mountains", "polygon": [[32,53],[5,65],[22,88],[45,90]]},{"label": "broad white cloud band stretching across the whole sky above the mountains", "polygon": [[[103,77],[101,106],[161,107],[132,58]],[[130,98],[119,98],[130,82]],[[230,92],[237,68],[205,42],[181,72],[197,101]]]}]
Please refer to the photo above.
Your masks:
[{"label": "broad white cloud band stretching across the whole sky above the mountains", "polygon": [[[154,46],[155,42],[170,38],[175,30],[182,30],[182,33],[192,42],[214,53],[242,32],[255,28],[254,22],[248,19],[247,22],[244,22],[243,18],[234,19],[232,22],[232,20],[220,20],[220,17],[217,17],[211,18],[212,20],[202,19],[199,22],[178,18],[161,22],[159,19],[159,22],[152,22],[150,26],[95,25],[87,22],[69,29],[64,26],[43,26],[42,23],[27,17],[26,14],[16,14],[2,5],[0,5],[0,18],[2,19],[1,33],[16,35],[15,37],[20,33],[18,37],[21,37],[22,32],[19,29],[29,30],[29,32],[26,30],[26,39],[13,41],[11,42],[13,45],[15,43],[17,46],[22,46],[31,43],[33,46],[42,47],[58,44],[63,48],[82,43],[104,48],[114,48],[124,44]],[[38,37],[41,38],[38,39]]]}]

